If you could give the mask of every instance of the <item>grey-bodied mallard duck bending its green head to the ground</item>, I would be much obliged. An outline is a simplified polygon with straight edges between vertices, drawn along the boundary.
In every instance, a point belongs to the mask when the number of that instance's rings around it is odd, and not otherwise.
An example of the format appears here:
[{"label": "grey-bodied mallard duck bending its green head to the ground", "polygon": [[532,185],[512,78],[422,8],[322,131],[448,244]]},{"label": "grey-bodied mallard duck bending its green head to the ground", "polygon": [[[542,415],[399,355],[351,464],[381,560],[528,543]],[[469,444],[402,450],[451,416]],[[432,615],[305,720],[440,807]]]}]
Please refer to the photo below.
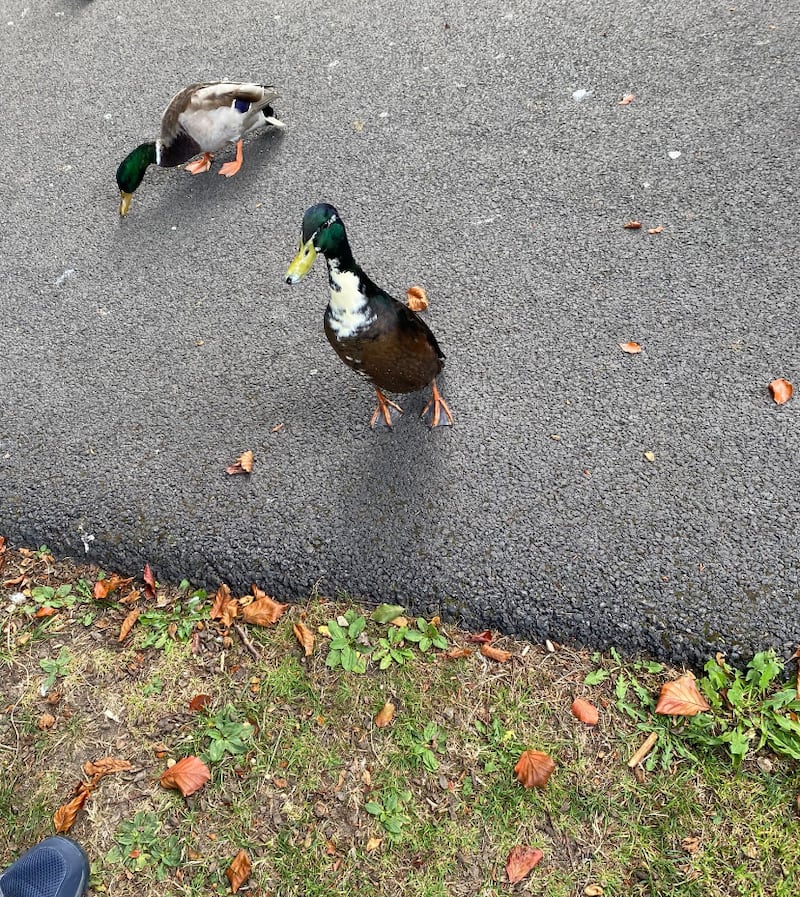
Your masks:
[{"label": "grey-bodied mallard duck bending its green head to the ground", "polygon": [[[190,84],[170,100],[161,116],[157,140],[142,143],[128,153],[117,169],[119,213],[127,215],[133,193],[149,165],[174,168],[184,162],[192,174],[211,168],[212,153],[236,144],[236,158],[219,170],[233,177],[242,167],[242,138],[264,124],[283,128],[270,105],[278,94],[261,84],[214,82]],[[202,153],[199,159],[190,162]]]}]

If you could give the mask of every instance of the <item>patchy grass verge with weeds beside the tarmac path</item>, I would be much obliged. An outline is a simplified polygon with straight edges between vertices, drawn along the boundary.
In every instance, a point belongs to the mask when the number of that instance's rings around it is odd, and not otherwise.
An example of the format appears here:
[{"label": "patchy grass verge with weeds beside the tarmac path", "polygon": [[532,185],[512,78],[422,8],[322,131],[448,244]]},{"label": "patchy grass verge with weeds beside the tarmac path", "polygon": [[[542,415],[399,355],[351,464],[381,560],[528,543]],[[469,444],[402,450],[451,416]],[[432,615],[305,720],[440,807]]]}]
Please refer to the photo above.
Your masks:
[{"label": "patchy grass verge with weeds beside the tarmac path", "polygon": [[[653,711],[679,671],[616,652],[502,639],[512,659],[496,663],[464,633],[342,596],[226,628],[187,583],[141,597],[120,642],[135,601],[122,586],[95,601],[100,571],[9,549],[3,577],[19,581],[0,586],[0,867],[52,832],[87,760],[113,755],[132,768],[97,785],[71,831],[97,893],[227,893],[244,849],[250,885],[275,897],[490,897],[511,890],[520,844],[544,857],[514,890],[542,897],[800,888],[800,741],[775,659],[710,662],[711,710],[673,719]],[[596,727],[570,714],[576,696],[600,708]],[[544,789],[514,776],[526,749],[555,761]],[[183,798],[159,777],[189,754],[211,780]]]}]

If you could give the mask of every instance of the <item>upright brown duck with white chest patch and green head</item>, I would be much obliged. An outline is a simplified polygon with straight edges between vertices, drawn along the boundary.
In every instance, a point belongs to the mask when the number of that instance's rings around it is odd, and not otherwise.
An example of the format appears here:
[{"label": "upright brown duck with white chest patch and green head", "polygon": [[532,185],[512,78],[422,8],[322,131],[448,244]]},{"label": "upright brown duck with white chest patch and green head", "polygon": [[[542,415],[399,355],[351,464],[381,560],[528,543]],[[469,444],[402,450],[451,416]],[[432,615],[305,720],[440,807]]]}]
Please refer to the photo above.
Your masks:
[{"label": "upright brown duck with white chest patch and green head", "polygon": [[378,407],[370,418],[392,426],[391,408],[403,409],[383,394],[416,392],[430,385],[432,398],[422,410],[431,426],[452,424],[453,415],[436,386],[444,353],[428,325],[408,306],[376,286],[353,259],[344,224],[336,209],[319,203],[303,215],[300,251],[286,272],[297,283],[311,270],[317,253],[328,266],[330,300],[325,335],[342,361],[370,381]]}]

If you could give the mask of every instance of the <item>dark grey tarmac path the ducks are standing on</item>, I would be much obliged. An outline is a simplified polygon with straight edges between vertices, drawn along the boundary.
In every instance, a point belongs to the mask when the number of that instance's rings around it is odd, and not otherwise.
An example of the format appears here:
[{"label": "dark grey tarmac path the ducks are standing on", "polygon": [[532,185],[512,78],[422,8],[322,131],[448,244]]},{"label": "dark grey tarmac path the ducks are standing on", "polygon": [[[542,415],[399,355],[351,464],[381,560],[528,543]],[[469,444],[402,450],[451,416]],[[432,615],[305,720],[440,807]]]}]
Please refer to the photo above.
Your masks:
[{"label": "dark grey tarmac path the ducks are standing on", "polygon": [[[0,10],[0,533],[676,661],[794,650],[796,0]],[[276,84],[288,130],[230,180],[151,169],[120,221],[116,166],[209,79]],[[322,199],[427,288],[451,430],[417,394],[370,431],[324,266],[285,285]]]}]

